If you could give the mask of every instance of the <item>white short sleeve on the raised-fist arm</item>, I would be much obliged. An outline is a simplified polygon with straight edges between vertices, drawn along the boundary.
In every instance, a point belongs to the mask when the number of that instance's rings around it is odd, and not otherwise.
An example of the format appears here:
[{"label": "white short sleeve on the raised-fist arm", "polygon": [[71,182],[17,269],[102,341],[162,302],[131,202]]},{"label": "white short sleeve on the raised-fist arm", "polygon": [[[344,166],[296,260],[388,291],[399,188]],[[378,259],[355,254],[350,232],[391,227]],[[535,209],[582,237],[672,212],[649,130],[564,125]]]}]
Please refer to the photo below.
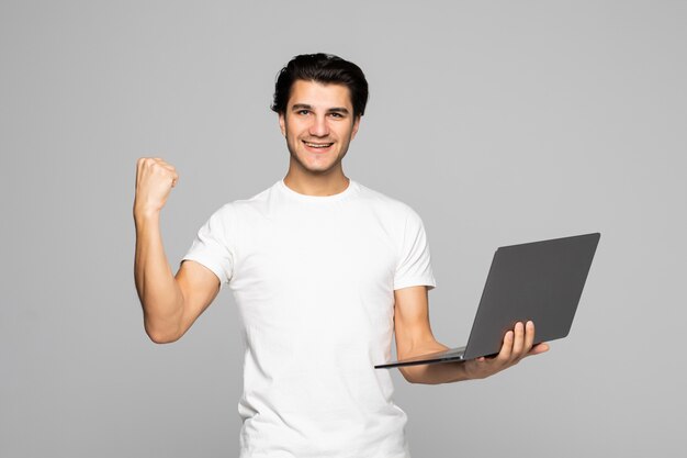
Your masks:
[{"label": "white short sleeve on the raised-fist arm", "polygon": [[219,288],[232,279],[234,252],[227,233],[230,206],[224,205],[201,226],[183,260],[194,260],[212,270],[219,279]]}]

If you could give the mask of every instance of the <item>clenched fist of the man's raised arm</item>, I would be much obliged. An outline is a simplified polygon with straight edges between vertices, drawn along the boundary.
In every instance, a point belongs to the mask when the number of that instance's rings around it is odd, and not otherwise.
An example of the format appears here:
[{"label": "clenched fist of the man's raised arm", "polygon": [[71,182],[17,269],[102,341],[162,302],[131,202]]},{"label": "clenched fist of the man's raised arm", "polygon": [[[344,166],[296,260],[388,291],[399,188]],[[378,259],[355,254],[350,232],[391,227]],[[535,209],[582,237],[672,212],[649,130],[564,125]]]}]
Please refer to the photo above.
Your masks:
[{"label": "clenched fist of the man's raised arm", "polygon": [[159,157],[142,157],[136,163],[136,197],[134,215],[159,212],[165,206],[179,175],[173,166]]}]

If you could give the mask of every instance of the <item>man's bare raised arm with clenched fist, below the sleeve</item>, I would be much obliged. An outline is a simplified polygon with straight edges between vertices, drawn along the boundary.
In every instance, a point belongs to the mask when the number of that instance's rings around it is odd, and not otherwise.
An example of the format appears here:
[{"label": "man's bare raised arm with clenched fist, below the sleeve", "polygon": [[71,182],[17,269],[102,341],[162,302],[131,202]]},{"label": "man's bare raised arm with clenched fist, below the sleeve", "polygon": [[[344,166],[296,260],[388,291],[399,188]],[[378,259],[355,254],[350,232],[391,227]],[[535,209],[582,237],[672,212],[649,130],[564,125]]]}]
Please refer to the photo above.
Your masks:
[{"label": "man's bare raised arm with clenched fist, below the sleeve", "polygon": [[179,339],[219,291],[219,280],[206,267],[184,261],[174,277],[167,260],[160,212],[178,180],[174,167],[161,158],[138,159],[134,279],[146,333],[158,344]]}]

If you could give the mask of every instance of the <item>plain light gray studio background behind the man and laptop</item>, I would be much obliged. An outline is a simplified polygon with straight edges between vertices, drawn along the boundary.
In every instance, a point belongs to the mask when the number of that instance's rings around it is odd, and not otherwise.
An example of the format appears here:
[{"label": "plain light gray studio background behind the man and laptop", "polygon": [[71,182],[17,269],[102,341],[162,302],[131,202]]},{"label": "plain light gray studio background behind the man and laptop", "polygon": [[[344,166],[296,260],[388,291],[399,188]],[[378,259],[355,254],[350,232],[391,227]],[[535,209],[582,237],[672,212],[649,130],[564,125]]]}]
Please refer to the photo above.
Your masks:
[{"label": "plain light gray studio background behind the man and laptop", "polygon": [[684,1],[3,0],[0,456],[237,455],[228,290],[180,342],[144,334],[135,163],[180,172],[176,268],[214,210],[283,177],[274,76],[319,51],[369,78],[345,170],[423,216],[441,342],[466,339],[497,246],[602,233],[548,355],[439,387],[394,372],[414,456],[682,455],[686,20]]}]

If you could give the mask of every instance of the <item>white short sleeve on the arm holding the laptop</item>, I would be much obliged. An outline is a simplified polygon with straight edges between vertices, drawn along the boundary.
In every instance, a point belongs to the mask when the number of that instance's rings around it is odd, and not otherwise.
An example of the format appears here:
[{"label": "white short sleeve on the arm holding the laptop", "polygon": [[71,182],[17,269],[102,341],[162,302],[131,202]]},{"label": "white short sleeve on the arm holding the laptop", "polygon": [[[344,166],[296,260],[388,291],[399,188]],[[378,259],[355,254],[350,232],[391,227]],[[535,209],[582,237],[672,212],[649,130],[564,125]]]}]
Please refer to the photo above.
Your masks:
[{"label": "white short sleeve on the arm holding the laptop", "polygon": [[409,210],[405,222],[401,256],[394,276],[394,290],[407,287],[437,286],[429,256],[429,244],[420,216]]}]

